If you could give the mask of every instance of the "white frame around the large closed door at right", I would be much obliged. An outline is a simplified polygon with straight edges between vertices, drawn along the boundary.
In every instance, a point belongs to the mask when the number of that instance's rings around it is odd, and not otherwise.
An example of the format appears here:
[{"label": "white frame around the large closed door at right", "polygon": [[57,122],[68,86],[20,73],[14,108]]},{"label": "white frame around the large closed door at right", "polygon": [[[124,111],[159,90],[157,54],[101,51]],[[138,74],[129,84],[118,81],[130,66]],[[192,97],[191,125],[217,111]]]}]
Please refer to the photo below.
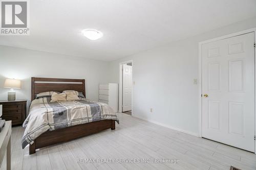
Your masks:
[{"label": "white frame around the large closed door at right", "polygon": [[[212,38],[206,41],[201,41],[199,42],[199,58],[198,58],[198,65],[199,65],[199,71],[198,71],[198,100],[199,100],[199,112],[198,112],[198,136],[202,137],[202,45],[205,43],[209,43],[209,42],[213,42],[213,41],[218,41],[218,40],[222,40],[222,39],[226,39],[226,38],[230,38],[230,37],[235,37],[235,36],[239,36],[239,35],[243,35],[243,34],[247,34],[247,33],[251,33],[254,32],[254,43],[256,42],[256,28],[252,28],[252,29],[248,29],[248,30],[243,30],[243,31],[239,31],[236,33],[231,33],[231,34],[227,34],[221,37],[217,37],[217,38]],[[256,54],[256,50],[254,48],[254,65],[256,66],[256,60],[255,60],[255,54]],[[255,100],[255,96],[256,96],[256,68],[254,66],[254,135],[256,132],[256,115],[255,115],[255,106],[256,106],[256,100]],[[254,141],[254,153],[256,154],[256,140]]]}]

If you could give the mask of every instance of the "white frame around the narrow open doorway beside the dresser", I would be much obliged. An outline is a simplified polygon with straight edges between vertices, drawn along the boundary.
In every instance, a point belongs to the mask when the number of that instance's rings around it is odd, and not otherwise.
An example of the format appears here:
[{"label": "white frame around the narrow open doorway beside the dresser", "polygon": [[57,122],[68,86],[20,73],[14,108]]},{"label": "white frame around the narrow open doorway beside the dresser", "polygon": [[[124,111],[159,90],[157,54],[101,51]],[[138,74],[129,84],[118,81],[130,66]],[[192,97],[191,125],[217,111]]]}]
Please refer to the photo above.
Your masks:
[{"label": "white frame around the narrow open doorway beside the dresser", "polygon": [[118,112],[122,113],[123,110],[123,64],[132,63],[132,115],[133,115],[133,60],[128,60],[119,63],[119,89],[118,89]]}]

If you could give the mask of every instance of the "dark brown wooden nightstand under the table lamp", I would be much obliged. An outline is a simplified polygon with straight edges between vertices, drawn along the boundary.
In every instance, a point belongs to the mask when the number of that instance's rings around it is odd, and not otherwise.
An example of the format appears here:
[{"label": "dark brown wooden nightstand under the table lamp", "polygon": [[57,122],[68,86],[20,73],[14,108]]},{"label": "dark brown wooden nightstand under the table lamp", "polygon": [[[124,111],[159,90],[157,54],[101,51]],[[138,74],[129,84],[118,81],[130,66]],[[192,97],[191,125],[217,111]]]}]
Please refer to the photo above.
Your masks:
[{"label": "dark brown wooden nightstand under the table lamp", "polygon": [[12,125],[23,124],[27,114],[27,100],[0,101],[3,105],[2,119],[12,120]]}]

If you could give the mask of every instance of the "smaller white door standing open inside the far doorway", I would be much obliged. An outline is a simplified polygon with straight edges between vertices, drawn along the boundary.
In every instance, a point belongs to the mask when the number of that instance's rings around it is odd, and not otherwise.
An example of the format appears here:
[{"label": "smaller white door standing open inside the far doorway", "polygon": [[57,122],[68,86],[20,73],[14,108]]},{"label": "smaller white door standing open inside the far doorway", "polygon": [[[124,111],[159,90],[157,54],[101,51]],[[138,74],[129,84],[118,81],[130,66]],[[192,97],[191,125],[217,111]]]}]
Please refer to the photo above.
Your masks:
[{"label": "smaller white door standing open inside the far doorway", "polygon": [[123,112],[132,110],[132,66],[123,64]]}]

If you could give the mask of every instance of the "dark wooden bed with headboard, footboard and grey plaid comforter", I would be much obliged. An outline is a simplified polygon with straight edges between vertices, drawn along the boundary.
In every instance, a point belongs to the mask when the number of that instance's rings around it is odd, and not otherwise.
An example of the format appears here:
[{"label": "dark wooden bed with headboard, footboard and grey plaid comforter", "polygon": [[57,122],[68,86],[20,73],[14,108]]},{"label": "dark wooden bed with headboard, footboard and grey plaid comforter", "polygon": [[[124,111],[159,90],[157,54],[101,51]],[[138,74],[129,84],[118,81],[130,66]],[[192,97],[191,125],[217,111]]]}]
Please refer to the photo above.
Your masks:
[{"label": "dark wooden bed with headboard, footboard and grey plaid comforter", "polygon": [[119,120],[107,104],[82,98],[67,102],[51,102],[49,98],[35,99],[36,94],[46,91],[75,90],[86,96],[85,87],[83,79],[32,77],[31,106],[23,125],[26,129],[22,138],[22,148],[29,144],[31,155],[36,149],[48,145],[106,129],[115,130],[115,122],[119,123]]}]

